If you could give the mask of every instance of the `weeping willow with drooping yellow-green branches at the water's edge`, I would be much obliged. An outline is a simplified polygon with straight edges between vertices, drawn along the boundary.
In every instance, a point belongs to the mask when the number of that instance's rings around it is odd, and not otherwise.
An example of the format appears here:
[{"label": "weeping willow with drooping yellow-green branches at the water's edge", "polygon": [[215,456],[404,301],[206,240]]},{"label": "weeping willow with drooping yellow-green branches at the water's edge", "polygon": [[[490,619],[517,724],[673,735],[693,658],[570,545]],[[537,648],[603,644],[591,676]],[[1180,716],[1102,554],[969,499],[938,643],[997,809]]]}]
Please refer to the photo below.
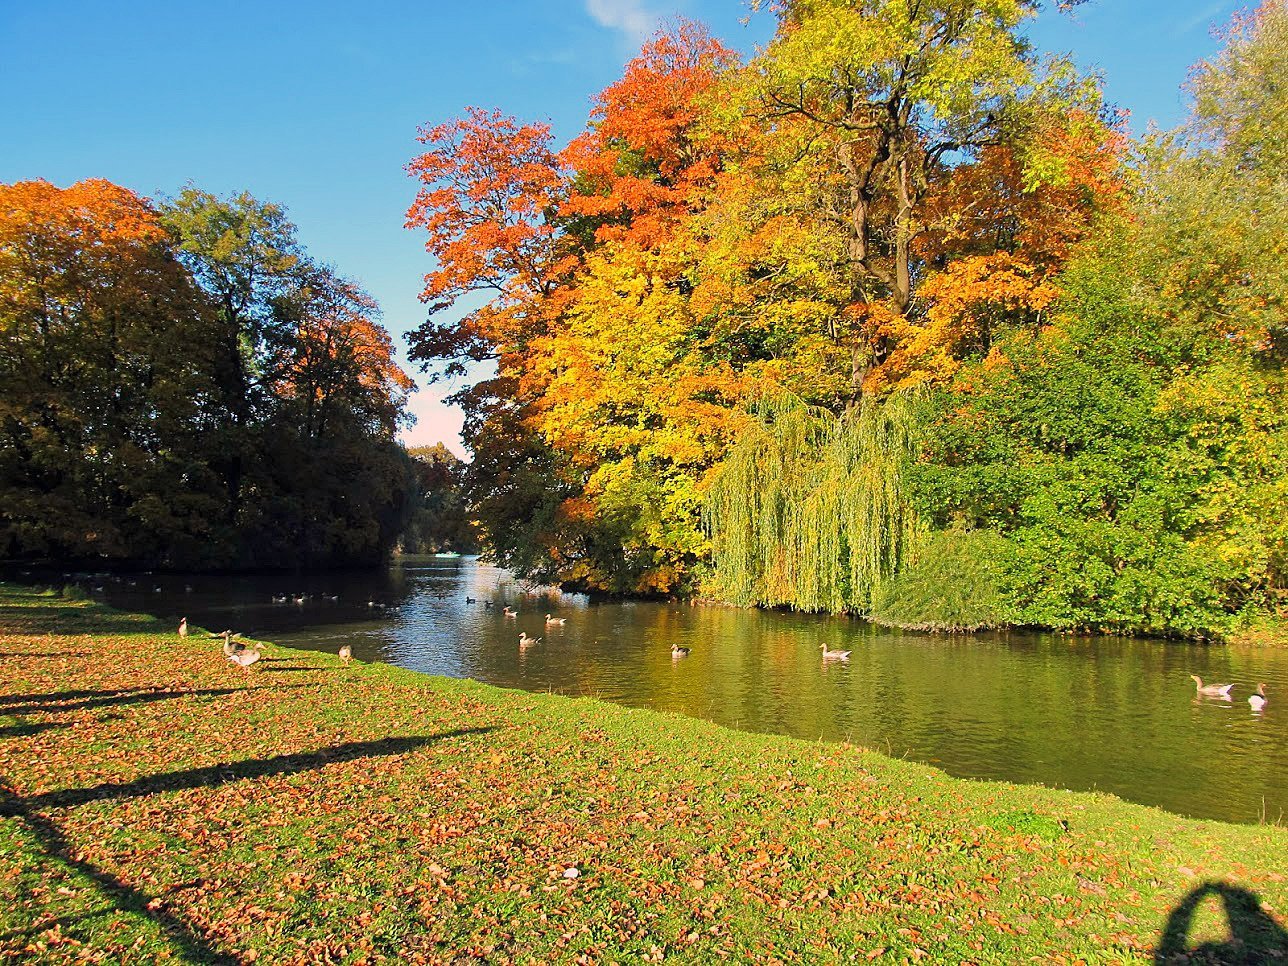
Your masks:
[{"label": "weeping willow with drooping yellow-green branches at the water's edge", "polygon": [[867,613],[918,533],[905,486],[916,402],[845,413],[757,404],[707,491],[710,590],[738,604]]}]

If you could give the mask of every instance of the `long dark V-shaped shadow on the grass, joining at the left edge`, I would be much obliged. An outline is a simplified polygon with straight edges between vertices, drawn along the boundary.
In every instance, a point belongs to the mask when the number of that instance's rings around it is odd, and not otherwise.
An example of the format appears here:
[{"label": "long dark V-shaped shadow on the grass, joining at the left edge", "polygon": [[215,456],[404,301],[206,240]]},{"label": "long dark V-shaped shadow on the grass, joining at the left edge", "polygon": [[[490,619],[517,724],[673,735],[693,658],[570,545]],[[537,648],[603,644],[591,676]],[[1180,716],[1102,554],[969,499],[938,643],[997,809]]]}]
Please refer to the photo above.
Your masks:
[{"label": "long dark V-shaped shadow on the grass, joining at the left edge", "polygon": [[84,858],[84,851],[63,832],[43,809],[67,808],[90,801],[108,799],[137,799],[157,792],[179,788],[202,788],[223,784],[243,778],[264,778],[307,772],[334,761],[353,761],[379,755],[406,755],[434,742],[465,738],[473,734],[486,734],[496,730],[487,728],[462,728],[442,734],[415,735],[408,738],[381,738],[370,742],[348,742],[310,753],[278,755],[270,759],[254,759],[228,765],[192,768],[182,772],[139,778],[134,782],[113,782],[91,788],[75,788],[63,792],[46,792],[27,799],[21,797],[4,782],[0,782],[0,817],[9,815],[22,819],[40,844],[40,848],[67,869],[91,880],[117,909],[152,920],[174,947],[174,951],[187,962],[194,963],[236,963],[238,960],[220,952],[213,942],[184,922],[182,917],[165,908],[164,903],[149,899],[147,894],[122,882],[106,869],[100,869]]}]

